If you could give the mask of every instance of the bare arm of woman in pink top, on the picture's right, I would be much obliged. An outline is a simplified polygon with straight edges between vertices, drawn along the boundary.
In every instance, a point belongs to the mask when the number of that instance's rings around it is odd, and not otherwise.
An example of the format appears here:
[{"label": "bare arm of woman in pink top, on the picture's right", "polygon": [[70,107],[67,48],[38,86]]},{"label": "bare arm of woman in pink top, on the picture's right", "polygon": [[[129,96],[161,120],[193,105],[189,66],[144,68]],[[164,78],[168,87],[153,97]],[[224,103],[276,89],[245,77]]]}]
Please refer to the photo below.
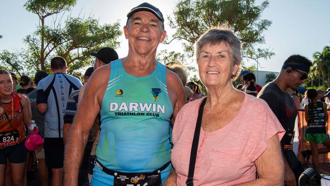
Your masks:
[{"label": "bare arm of woman in pink top, on the picture's right", "polygon": [[237,185],[283,185],[284,162],[278,135],[267,141],[267,149],[255,161],[259,178]]}]

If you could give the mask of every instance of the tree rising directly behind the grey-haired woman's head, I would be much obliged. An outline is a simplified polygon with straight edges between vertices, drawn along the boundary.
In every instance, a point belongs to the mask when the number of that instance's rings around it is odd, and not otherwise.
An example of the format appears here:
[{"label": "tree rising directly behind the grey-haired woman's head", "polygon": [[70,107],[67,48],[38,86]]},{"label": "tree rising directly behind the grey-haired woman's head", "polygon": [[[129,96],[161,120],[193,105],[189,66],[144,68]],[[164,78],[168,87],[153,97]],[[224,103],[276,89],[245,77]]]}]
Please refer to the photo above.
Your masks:
[{"label": "tree rising directly behind the grey-haired woman's head", "polygon": [[227,24],[242,42],[243,57],[253,60],[270,58],[274,55],[269,49],[255,49],[256,44],[264,44],[262,35],[271,25],[271,21],[260,19],[261,13],[268,7],[268,1],[260,6],[254,0],[182,0],[176,5],[169,25],[176,28],[171,41],[183,41],[184,50],[193,55],[193,44],[210,27]]}]

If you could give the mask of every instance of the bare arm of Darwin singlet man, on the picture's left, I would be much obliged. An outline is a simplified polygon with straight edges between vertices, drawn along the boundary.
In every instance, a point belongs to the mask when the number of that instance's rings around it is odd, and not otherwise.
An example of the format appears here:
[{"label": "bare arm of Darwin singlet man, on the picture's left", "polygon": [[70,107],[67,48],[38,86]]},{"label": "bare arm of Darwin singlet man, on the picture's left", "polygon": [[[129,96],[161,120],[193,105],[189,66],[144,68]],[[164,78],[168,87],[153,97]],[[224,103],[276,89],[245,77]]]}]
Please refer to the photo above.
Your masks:
[{"label": "bare arm of Darwin singlet man, on the picture's left", "polygon": [[65,146],[64,156],[64,185],[77,185],[78,172],[83,157],[88,134],[94,120],[100,112],[102,99],[110,75],[110,65],[94,71],[88,81],[84,96],[78,106],[70,137]]}]

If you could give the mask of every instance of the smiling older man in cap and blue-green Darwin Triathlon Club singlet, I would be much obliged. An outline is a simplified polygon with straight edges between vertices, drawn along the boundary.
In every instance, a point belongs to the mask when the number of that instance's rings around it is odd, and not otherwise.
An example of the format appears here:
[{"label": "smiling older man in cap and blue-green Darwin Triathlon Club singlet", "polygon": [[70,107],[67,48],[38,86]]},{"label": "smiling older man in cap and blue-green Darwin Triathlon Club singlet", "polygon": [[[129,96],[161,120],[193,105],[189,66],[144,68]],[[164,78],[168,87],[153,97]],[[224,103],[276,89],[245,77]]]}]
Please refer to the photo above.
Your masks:
[{"label": "smiling older man in cap and blue-green Darwin Triathlon Club singlet", "polygon": [[95,70],[78,107],[65,152],[66,185],[77,185],[83,148],[99,112],[92,185],[159,185],[170,173],[170,120],[185,103],[183,85],[155,60],[166,37],[159,9],[143,3],[127,18],[127,56]]}]

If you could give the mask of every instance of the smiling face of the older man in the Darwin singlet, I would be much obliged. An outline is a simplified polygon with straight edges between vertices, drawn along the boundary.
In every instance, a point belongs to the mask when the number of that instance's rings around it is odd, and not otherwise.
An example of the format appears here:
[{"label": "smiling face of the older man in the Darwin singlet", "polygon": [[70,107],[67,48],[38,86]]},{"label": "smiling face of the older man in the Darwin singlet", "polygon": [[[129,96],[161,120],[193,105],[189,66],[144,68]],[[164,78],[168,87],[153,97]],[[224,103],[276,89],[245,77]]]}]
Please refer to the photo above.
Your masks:
[{"label": "smiling face of the older man in the Darwin singlet", "polygon": [[158,44],[166,37],[166,31],[161,31],[161,21],[151,12],[134,13],[124,26],[124,34],[128,39],[129,50],[134,54],[155,53]]}]

